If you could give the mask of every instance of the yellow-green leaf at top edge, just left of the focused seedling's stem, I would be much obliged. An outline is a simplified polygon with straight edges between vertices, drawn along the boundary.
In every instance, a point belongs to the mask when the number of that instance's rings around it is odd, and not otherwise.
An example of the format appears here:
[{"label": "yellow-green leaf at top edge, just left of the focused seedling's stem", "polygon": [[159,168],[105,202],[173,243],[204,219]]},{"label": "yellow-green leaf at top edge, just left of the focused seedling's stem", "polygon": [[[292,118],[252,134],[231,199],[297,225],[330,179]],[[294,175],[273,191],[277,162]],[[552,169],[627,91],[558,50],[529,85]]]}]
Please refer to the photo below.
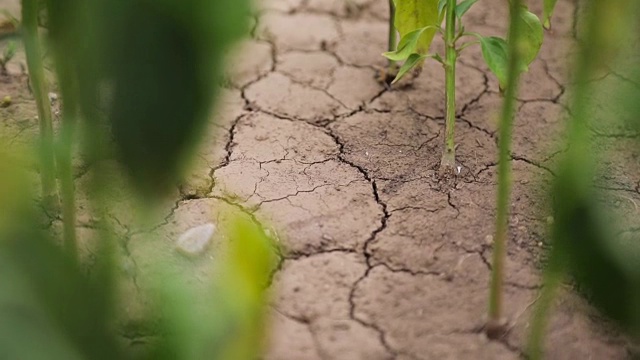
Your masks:
[{"label": "yellow-green leaf at top edge, just left of the focused seedling's stem", "polygon": [[433,26],[425,30],[416,46],[417,53],[427,53],[439,25],[438,0],[394,0],[394,3],[394,21],[401,38],[416,29]]}]

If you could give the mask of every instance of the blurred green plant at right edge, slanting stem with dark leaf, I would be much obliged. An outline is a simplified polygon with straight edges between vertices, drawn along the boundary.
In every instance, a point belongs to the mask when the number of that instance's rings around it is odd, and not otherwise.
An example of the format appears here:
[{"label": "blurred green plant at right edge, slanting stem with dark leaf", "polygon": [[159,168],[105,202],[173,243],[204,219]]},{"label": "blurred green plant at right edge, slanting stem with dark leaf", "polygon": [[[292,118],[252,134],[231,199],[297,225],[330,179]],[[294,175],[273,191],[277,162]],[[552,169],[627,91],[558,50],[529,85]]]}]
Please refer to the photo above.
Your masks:
[{"label": "blurred green plant at right edge, slanting stem with dark leaf", "polygon": [[[543,358],[543,340],[549,312],[559,285],[572,279],[578,290],[600,311],[614,320],[633,338],[640,338],[640,247],[637,233],[630,239],[616,235],[611,216],[603,214],[601,191],[593,179],[596,162],[592,155],[593,140],[589,124],[611,121],[622,115],[629,127],[638,128],[640,116],[637,91],[616,91],[610,101],[620,113],[602,114],[597,102],[603,97],[594,83],[601,69],[610,68],[621,57],[635,57],[640,49],[625,41],[640,25],[639,4],[631,0],[586,1],[584,33],[579,34],[579,53],[575,59],[571,113],[568,121],[569,144],[557,170],[552,189],[554,222],[551,229],[552,248],[543,274],[540,300],[532,314],[527,355]],[[630,48],[631,54],[621,54]],[[626,81],[640,82],[638,68]]]}]

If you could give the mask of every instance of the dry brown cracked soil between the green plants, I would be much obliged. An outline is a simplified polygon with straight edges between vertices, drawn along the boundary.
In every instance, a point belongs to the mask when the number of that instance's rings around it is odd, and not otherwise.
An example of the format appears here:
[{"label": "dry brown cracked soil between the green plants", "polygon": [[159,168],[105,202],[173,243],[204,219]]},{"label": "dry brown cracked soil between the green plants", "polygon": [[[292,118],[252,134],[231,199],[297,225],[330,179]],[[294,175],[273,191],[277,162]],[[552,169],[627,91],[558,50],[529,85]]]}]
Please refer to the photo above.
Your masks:
[{"label": "dry brown cracked soil between the green plants", "polygon": [[[109,210],[126,259],[130,323],[148,305],[138,290],[151,286],[154,263],[200,287],[215,276],[224,237],[197,260],[175,253],[176,237],[212,220],[224,227],[225,214],[241,212],[247,226],[265,225],[284,249],[274,251],[280,261],[270,285],[265,359],[523,357],[549,222],[544,202],[564,150],[557,142],[567,114],[564,64],[574,49],[578,6],[558,3],[553,31],[523,79],[512,153],[505,304],[511,330],[499,341],[481,331],[495,215],[497,82],[479,49],[465,50],[456,128],[462,173],[453,187],[441,186],[433,169],[443,140],[444,74],[427,63],[421,76],[392,89],[377,81],[385,65],[386,6],[382,0],[257,6],[252,36],[230,60],[211,131],[188,180],[166,199],[164,219],[140,228],[131,209]],[[506,11],[503,1],[484,0],[466,26],[502,35]],[[37,135],[35,106],[13,66],[0,82],[0,98],[14,97],[0,109],[0,126],[12,141],[27,141]],[[616,79],[598,81],[619,86]],[[601,187],[618,199],[609,205],[631,227],[640,171],[637,149],[625,145],[637,135],[604,130],[594,128],[594,139],[615,156],[605,163],[610,176]],[[80,188],[90,172],[79,168]],[[82,197],[79,206],[78,228],[90,239],[95,230],[83,216]],[[59,219],[48,226],[59,228]],[[90,264],[91,246],[84,248]],[[151,330],[125,328],[133,329],[125,330],[132,347],[158,340]],[[624,359],[629,346],[584,299],[563,291],[546,337],[549,359]]]}]

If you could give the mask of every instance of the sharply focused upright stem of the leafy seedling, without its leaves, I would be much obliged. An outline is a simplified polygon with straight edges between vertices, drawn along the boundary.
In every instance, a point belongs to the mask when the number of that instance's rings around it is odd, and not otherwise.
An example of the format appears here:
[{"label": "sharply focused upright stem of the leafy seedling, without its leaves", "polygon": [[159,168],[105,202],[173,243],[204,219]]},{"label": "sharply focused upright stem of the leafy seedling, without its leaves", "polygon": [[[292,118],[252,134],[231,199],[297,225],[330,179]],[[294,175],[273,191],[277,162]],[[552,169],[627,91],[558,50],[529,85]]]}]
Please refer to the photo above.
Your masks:
[{"label": "sharply focused upright stem of the leafy seedling, without its leaves", "polygon": [[442,151],[440,169],[453,171],[456,166],[455,125],[456,125],[456,61],[458,50],[456,49],[456,0],[447,1],[447,19],[444,33],[445,43],[445,102],[446,125],[445,142]]}]

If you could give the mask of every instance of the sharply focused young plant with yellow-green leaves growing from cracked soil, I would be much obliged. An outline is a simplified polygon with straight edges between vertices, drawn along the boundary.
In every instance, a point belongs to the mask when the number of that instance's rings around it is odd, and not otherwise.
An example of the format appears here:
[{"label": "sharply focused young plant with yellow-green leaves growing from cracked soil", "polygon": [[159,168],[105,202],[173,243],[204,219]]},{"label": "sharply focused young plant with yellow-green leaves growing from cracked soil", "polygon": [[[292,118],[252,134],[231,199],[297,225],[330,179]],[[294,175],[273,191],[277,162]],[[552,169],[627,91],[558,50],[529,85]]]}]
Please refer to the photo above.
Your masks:
[{"label": "sharply focused young plant with yellow-green leaves growing from cracked soil", "polygon": [[[393,80],[396,83],[410,70],[420,68],[427,58],[438,61],[445,70],[445,140],[440,162],[443,174],[454,174],[456,168],[455,121],[456,121],[456,62],[463,49],[480,44],[482,56],[489,69],[496,75],[501,91],[507,85],[508,70],[508,39],[499,37],[484,37],[478,33],[467,32],[462,24],[462,18],[477,0],[394,0],[395,27],[400,32],[400,42],[395,51],[383,55],[391,61],[404,61],[398,75]],[[522,5],[520,5],[522,6]],[[519,68],[527,71],[528,65],[536,58],[542,45],[543,28],[536,15],[526,7],[520,12],[525,31],[519,41],[522,61]],[[441,23],[445,23],[442,28]],[[429,53],[431,41],[435,33],[439,33],[444,40],[444,56]],[[475,38],[472,41],[462,41],[465,38]]]}]

